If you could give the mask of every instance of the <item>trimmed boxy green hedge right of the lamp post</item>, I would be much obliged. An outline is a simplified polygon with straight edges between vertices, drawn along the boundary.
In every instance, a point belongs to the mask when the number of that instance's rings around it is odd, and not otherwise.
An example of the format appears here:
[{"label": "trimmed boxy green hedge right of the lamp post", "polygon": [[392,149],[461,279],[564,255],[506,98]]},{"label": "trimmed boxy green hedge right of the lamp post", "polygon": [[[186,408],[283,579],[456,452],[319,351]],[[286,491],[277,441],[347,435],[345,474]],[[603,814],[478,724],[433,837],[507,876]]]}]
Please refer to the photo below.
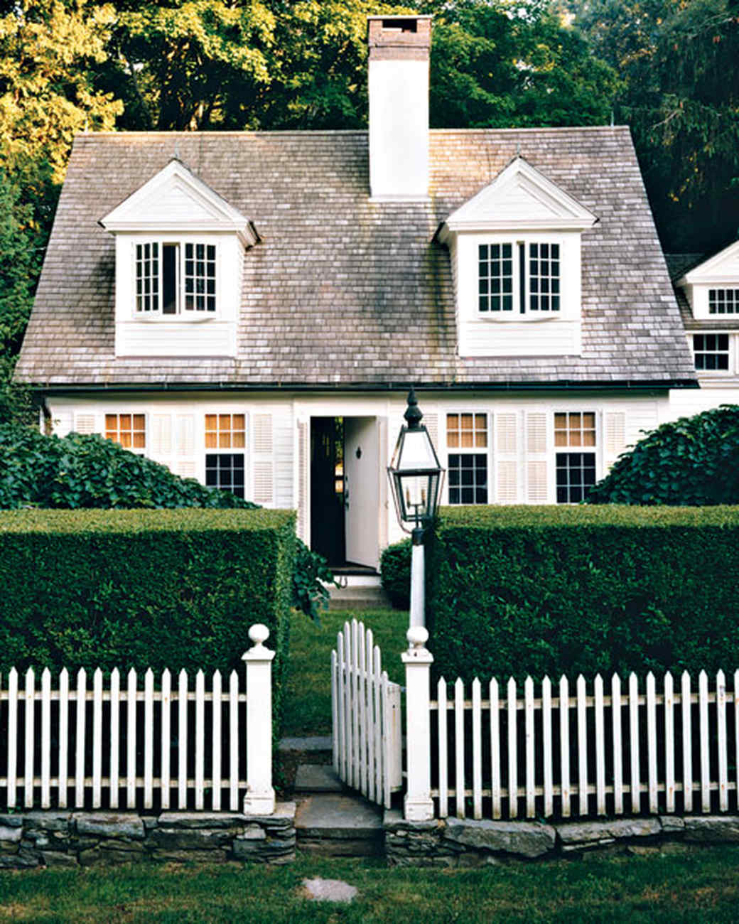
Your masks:
[{"label": "trimmed boxy green hedge right of the lamp post", "polygon": [[738,507],[454,507],[430,537],[437,675],[739,667]]}]

